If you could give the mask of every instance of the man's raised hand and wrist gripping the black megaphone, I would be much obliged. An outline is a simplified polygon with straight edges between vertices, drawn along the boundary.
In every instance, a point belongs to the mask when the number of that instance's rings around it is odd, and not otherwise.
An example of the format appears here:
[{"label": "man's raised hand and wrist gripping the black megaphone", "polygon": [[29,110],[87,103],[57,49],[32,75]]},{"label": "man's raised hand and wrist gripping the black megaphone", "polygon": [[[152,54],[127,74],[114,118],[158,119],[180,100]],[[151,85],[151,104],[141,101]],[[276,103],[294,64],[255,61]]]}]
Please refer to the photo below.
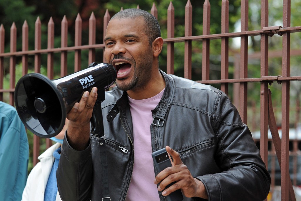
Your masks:
[{"label": "man's raised hand and wrist gripping the black megaphone", "polygon": [[67,138],[71,147],[76,150],[84,150],[89,144],[90,119],[96,99],[97,88],[93,87],[91,93],[84,92],[79,103],[75,103],[67,114]]}]

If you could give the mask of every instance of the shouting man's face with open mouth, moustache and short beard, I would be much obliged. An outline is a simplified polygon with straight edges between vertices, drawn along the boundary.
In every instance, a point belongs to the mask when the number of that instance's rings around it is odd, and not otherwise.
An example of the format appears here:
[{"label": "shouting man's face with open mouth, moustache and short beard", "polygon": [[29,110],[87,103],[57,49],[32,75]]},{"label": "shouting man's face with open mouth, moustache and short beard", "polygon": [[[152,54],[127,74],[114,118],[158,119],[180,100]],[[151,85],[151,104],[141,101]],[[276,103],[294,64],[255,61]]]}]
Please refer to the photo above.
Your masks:
[{"label": "shouting man's face with open mouth, moustache and short beard", "polygon": [[150,80],[154,58],[144,19],[110,20],[104,43],[105,61],[117,70],[116,86],[123,91],[143,88]]}]

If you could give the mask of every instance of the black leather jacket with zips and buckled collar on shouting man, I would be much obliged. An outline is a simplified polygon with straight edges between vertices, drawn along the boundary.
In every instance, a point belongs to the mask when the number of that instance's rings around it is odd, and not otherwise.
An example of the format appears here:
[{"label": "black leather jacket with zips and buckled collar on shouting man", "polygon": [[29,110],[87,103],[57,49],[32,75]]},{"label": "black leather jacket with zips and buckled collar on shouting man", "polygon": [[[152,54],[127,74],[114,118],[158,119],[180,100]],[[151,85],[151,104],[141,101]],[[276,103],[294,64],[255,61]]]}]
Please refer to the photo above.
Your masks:
[{"label": "black leather jacket with zips and buckled collar on shouting man", "polygon": [[[209,200],[265,199],[270,176],[248,127],[226,94],[209,85],[161,73],[166,88],[152,111],[153,152],[166,145],[179,152],[192,176],[204,183]],[[126,200],[135,154],[127,94],[113,88],[106,92],[101,106],[109,194],[113,201]],[[57,170],[58,190],[64,201],[103,197],[100,145],[97,137],[91,135],[90,139],[84,151],[72,149],[64,139]],[[161,201],[166,200],[159,195]]]}]

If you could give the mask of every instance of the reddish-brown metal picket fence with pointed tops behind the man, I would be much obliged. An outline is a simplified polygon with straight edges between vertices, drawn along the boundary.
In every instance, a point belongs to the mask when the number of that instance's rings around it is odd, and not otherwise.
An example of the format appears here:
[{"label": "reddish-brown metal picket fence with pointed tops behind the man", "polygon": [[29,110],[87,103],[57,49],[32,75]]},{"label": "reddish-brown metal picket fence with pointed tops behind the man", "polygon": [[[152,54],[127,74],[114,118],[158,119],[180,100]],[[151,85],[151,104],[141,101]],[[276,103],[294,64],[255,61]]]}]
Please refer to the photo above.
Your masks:
[{"label": "reddish-brown metal picket fence with pointed tops behind the man", "polygon": [[[174,73],[174,55],[175,55],[175,43],[184,43],[184,77],[191,79],[192,72],[192,41],[202,41],[202,66],[201,68],[201,80],[197,82],[204,84],[218,84],[222,91],[226,94],[229,93],[229,84],[233,84],[234,91],[237,90],[232,101],[237,104],[240,116],[244,123],[247,123],[247,92],[248,84],[260,83],[260,139],[256,142],[260,143],[260,153],[265,164],[268,164],[268,155],[274,153],[277,156],[279,165],[281,168],[281,200],[296,200],[292,183],[289,176],[289,155],[290,155],[290,140],[289,140],[289,128],[290,128],[290,82],[300,81],[301,76],[290,75],[290,35],[294,32],[301,32],[301,26],[290,27],[291,16],[291,4],[290,0],[283,1],[283,27],[281,26],[269,26],[268,20],[268,0],[261,1],[261,28],[259,30],[248,30],[249,23],[249,2],[248,0],[241,0],[241,18],[240,18],[240,32],[229,33],[229,2],[228,0],[222,0],[222,19],[221,19],[221,33],[210,34],[210,2],[205,0],[203,4],[203,35],[192,36],[192,5],[188,0],[185,6],[185,36],[174,37],[175,33],[175,18],[174,7],[170,2],[167,9],[167,37],[164,38],[164,43],[167,48],[167,67],[166,72],[168,74]],[[158,18],[157,8],[155,4],[151,8],[151,14]],[[110,20],[110,14],[107,11],[103,17],[104,26],[103,31],[106,32],[107,24]],[[3,100],[3,94],[9,94],[9,104],[14,105],[14,87],[15,87],[15,67],[17,57],[22,58],[22,75],[28,72],[28,59],[30,56],[34,57],[34,71],[40,73],[41,56],[47,55],[47,76],[53,79],[54,69],[54,53],[60,53],[61,55],[61,77],[67,75],[67,55],[70,52],[74,53],[74,71],[81,69],[81,53],[82,50],[88,51],[88,63],[95,61],[95,51],[97,49],[104,49],[104,44],[96,44],[96,19],[94,13],[91,14],[89,19],[89,34],[88,44],[82,44],[82,19],[78,14],[75,21],[75,41],[74,46],[67,46],[67,19],[63,18],[61,21],[61,47],[54,48],[54,22],[52,18],[48,22],[48,45],[46,49],[41,48],[41,21],[37,18],[35,23],[35,48],[29,50],[28,33],[29,28],[25,21],[22,27],[22,50],[17,51],[17,28],[13,23],[10,31],[10,52],[4,52],[5,41],[5,29],[3,25],[0,26],[0,100]],[[300,24],[301,25],[301,24]],[[268,58],[271,55],[269,50],[269,37],[273,37],[275,34],[282,36],[282,52],[278,53],[278,56],[282,58],[282,75],[269,75],[268,74]],[[105,34],[104,34],[105,35]],[[249,78],[248,77],[248,39],[250,36],[260,36],[260,53],[257,56],[260,59],[260,77]],[[229,78],[229,39],[240,38],[240,54],[239,59],[236,59],[237,71],[234,78]],[[209,50],[210,41],[221,40],[221,55],[220,55],[220,79],[209,79]],[[298,54],[299,52],[297,52]],[[256,54],[253,54],[253,56]],[[4,80],[4,59],[9,59],[9,74],[10,74],[10,87],[8,89],[3,88]],[[88,65],[88,64],[87,64]],[[279,139],[278,129],[275,121],[275,116],[272,107],[272,98],[268,85],[271,83],[278,83],[282,85],[281,93],[281,131],[282,137]],[[239,94],[239,95],[237,95]],[[298,99],[298,98],[297,98]],[[296,107],[298,112],[300,107]],[[299,113],[297,113],[299,114]],[[296,121],[298,120],[297,117]],[[268,126],[272,133],[272,139],[268,139]],[[278,137],[277,137],[278,136]],[[49,139],[46,140],[47,147],[51,145]],[[272,151],[268,146],[272,143]],[[298,155],[299,141],[293,143],[294,153]],[[39,155],[39,137],[34,136],[34,150],[33,150],[33,164],[35,165]],[[301,146],[301,145],[299,145]],[[272,176],[272,179],[275,178]],[[272,180],[272,185],[274,185]]]}]

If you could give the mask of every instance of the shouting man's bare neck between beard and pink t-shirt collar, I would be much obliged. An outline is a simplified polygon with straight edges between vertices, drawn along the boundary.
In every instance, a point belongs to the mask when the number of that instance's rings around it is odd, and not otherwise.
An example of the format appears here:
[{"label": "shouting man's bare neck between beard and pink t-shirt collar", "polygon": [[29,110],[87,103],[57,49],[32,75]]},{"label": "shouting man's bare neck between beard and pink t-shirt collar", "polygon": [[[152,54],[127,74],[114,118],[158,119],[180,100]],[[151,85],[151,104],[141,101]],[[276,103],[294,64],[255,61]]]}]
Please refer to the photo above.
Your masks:
[{"label": "shouting man's bare neck between beard and pink t-shirt collar", "polygon": [[141,100],[151,98],[159,94],[165,88],[165,80],[159,69],[157,73],[152,76],[150,81],[140,88],[131,89],[126,91],[128,96],[132,99]]}]

